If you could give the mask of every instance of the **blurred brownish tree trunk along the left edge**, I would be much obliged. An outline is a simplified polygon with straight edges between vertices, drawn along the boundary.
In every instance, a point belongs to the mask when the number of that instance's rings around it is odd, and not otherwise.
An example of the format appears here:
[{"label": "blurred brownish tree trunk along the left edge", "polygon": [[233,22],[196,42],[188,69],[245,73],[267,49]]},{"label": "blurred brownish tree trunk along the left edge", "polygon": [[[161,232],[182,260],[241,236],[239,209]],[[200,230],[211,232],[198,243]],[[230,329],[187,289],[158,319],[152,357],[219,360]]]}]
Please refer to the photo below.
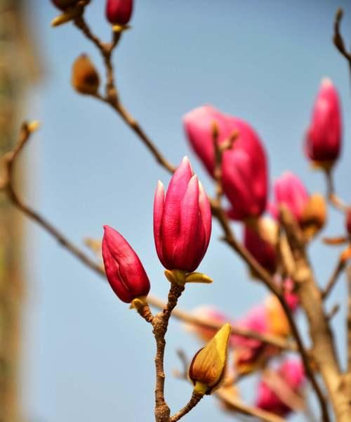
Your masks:
[{"label": "blurred brownish tree trunk along the left edge", "polygon": [[[0,0],[0,155],[13,147],[23,98],[37,81],[39,65],[24,6],[28,1]],[[22,188],[23,172],[18,177]],[[22,419],[20,338],[25,279],[22,273],[22,219],[0,196],[0,422]]]}]

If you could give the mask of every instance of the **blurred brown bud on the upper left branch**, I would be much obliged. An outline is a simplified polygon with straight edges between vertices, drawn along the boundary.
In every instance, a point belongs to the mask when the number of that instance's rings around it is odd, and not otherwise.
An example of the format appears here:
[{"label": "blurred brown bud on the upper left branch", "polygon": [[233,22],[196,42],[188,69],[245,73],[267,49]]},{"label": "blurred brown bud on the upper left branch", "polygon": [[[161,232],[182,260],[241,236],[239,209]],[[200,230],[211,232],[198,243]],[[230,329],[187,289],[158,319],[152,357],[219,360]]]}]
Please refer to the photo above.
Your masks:
[{"label": "blurred brown bud on the upper left branch", "polygon": [[72,86],[81,94],[95,95],[100,85],[100,77],[91,60],[81,54],[72,66]]}]

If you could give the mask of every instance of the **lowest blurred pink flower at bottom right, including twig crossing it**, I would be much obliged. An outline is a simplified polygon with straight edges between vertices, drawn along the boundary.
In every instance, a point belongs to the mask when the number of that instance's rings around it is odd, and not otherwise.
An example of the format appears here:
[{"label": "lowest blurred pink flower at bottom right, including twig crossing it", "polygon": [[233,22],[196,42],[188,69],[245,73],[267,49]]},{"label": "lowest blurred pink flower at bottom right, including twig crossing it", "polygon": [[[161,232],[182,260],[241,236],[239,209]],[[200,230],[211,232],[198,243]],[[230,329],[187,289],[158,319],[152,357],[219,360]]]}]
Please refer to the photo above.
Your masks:
[{"label": "lowest blurred pink flower at bottom right, including twig crossing it", "polygon": [[[269,382],[270,381],[270,382]],[[295,408],[302,408],[300,389],[305,383],[303,364],[286,359],[279,369],[258,384],[256,407],[279,416],[286,416]]]}]

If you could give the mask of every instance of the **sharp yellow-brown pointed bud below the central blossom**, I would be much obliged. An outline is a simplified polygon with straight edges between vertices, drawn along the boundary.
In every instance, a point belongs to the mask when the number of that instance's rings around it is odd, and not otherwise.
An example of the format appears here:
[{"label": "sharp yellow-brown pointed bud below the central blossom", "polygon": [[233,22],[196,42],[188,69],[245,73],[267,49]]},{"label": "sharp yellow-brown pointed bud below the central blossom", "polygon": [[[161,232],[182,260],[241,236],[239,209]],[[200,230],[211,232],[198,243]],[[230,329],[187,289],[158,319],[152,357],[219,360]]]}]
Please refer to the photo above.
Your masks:
[{"label": "sharp yellow-brown pointed bud below the central blossom", "polygon": [[230,332],[230,324],[224,324],[212,340],[192,359],[189,378],[194,384],[195,392],[211,394],[220,387],[227,366]]}]

